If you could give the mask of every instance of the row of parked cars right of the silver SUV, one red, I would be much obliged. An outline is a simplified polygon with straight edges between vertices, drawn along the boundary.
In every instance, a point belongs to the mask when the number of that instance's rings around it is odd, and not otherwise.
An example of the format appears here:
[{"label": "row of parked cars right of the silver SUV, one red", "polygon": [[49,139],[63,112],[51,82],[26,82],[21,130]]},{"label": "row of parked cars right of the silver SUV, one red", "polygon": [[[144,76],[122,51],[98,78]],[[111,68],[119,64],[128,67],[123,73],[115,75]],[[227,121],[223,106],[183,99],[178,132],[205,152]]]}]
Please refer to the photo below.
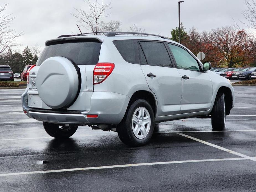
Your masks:
[{"label": "row of parked cars right of the silver SUV, one red", "polygon": [[256,79],[256,67],[248,68],[211,68],[211,71],[227,79],[251,80]]}]

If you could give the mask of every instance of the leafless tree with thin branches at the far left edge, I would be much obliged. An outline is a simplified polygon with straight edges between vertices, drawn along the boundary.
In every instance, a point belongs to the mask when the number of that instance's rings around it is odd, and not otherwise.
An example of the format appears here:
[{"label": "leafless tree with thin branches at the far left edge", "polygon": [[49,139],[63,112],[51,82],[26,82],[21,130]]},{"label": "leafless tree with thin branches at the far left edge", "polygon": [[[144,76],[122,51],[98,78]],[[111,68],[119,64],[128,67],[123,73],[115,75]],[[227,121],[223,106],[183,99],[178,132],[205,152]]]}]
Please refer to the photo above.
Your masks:
[{"label": "leafless tree with thin branches at the far left edge", "polygon": [[4,14],[7,5],[4,4],[4,6],[0,7],[0,54],[12,46],[21,45],[16,43],[15,40],[17,37],[24,35],[23,32],[16,33],[14,29],[10,28],[15,17],[12,17],[11,14]]}]

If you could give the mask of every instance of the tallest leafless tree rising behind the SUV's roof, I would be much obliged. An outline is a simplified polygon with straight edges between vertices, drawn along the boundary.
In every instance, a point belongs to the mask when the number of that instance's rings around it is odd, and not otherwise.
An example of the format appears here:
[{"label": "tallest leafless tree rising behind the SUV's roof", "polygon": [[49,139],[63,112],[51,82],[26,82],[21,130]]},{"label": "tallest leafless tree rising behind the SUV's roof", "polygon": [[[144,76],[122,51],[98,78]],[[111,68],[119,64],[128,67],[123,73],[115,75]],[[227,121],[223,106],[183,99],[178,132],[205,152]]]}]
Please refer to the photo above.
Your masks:
[{"label": "tallest leafless tree rising behind the SUV's roof", "polygon": [[91,30],[92,32],[98,32],[102,28],[102,19],[108,17],[109,9],[111,9],[110,4],[104,4],[104,0],[100,4],[97,0],[91,3],[89,0],[83,0],[86,5],[89,7],[89,11],[82,9],[77,9],[76,14],[72,14],[77,18],[77,22],[81,23],[86,29]]}]

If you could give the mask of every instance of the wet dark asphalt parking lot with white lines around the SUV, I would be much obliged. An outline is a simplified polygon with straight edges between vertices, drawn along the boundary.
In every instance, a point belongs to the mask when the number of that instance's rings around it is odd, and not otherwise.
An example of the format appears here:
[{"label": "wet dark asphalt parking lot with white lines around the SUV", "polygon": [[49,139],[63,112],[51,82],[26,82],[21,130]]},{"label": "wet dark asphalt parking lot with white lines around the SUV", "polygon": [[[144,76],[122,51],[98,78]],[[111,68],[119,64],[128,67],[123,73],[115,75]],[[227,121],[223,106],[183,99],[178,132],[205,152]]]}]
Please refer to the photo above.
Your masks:
[{"label": "wet dark asphalt parking lot with white lines around the SUV", "polygon": [[24,89],[0,89],[0,191],[255,191],[256,87],[234,88],[225,131],[169,121],[136,148],[87,126],[54,139],[23,114]]}]

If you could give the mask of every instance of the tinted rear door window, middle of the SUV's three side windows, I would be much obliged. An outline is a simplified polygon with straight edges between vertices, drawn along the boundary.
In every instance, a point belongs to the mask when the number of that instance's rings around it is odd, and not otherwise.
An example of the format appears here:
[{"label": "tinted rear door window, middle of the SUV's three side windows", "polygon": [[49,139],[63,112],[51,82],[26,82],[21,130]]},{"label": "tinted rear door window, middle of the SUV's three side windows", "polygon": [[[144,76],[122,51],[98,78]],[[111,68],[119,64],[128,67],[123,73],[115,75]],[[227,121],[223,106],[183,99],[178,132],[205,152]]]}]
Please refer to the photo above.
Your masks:
[{"label": "tinted rear door window, middle of the SUV's three side windows", "polygon": [[148,65],[172,67],[164,42],[139,41]]}]

